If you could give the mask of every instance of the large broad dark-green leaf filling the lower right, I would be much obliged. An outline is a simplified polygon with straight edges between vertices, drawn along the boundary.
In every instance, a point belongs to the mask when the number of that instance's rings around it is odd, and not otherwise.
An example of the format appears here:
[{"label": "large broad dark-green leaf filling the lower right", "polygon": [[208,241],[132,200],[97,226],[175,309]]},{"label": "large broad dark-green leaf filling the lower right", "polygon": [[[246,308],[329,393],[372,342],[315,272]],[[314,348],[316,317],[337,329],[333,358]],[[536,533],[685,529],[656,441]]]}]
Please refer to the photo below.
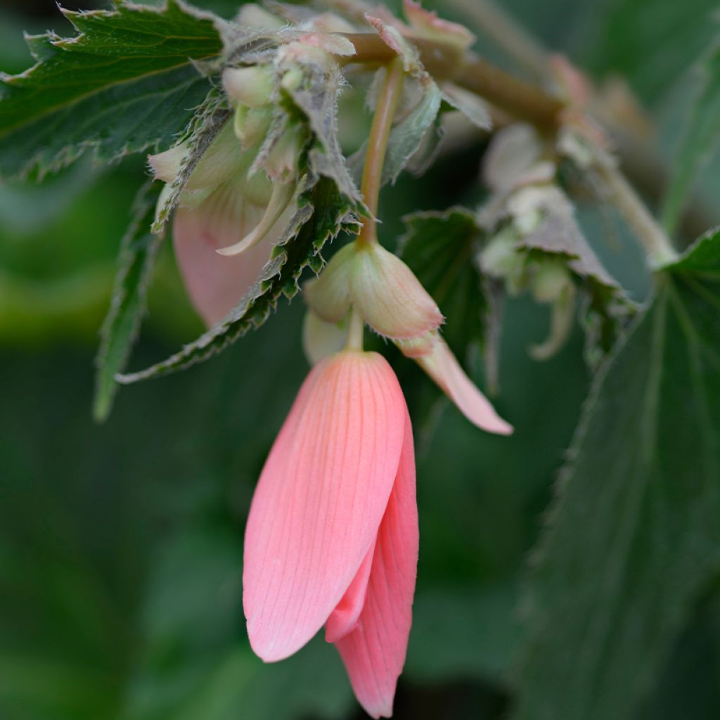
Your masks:
[{"label": "large broad dark-green leaf filling the lower right", "polygon": [[658,274],[595,379],[536,553],[518,719],[634,718],[720,570],[719,255],[710,233]]}]

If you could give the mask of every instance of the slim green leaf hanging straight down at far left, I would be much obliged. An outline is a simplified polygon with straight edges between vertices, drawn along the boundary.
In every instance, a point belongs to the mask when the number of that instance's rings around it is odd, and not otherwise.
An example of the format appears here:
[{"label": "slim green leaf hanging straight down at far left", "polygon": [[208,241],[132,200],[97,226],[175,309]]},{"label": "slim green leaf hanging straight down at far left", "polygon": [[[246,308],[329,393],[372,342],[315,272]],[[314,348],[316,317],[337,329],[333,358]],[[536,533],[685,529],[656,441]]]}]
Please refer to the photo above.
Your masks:
[{"label": "slim green leaf hanging straight down at far left", "polygon": [[135,201],[134,220],[120,248],[120,270],[107,317],[100,330],[100,348],[96,359],[93,414],[98,422],[112,408],[117,383],[115,375],[125,369],[130,349],[140,330],[145,311],[145,293],[162,237],[150,232],[161,184],[148,181]]}]

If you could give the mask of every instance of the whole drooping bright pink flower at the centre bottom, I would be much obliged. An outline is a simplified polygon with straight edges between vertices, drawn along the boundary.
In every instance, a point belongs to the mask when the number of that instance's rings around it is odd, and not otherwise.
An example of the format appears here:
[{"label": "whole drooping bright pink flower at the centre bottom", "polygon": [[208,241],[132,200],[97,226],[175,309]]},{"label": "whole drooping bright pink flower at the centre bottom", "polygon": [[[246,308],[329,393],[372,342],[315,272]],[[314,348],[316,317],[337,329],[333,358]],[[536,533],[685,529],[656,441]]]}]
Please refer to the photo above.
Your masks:
[{"label": "whole drooping bright pink flower at the centre bottom", "polygon": [[325,626],[369,715],[390,717],[418,562],[413,431],[395,373],[343,351],[310,372],[261,473],[243,605],[266,662]]}]

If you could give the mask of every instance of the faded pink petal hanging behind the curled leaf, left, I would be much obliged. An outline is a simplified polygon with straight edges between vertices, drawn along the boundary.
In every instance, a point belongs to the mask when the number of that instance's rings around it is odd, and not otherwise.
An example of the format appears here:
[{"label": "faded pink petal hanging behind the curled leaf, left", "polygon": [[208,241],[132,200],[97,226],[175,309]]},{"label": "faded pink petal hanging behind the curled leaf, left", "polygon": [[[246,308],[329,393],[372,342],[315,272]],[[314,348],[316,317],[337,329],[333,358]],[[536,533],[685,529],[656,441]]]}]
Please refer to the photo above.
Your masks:
[{"label": "faded pink petal hanging behind the curled leaf, left", "polygon": [[232,185],[214,192],[199,207],[179,207],[173,225],[175,256],[185,287],[200,317],[210,326],[238,304],[270,259],[284,226],[241,257],[217,254],[252,230],[264,208],[247,202]]}]

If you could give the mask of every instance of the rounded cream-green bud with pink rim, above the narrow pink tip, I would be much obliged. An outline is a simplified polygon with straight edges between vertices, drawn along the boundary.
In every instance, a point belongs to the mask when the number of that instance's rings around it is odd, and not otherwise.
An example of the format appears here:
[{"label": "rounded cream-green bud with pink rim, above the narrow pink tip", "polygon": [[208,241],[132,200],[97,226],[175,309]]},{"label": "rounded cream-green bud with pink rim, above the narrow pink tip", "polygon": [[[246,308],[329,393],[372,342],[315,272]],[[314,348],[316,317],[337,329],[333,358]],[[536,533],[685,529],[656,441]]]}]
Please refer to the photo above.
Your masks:
[{"label": "rounded cream-green bud with pink rim, above the narrow pink tip", "polygon": [[350,293],[366,323],[393,340],[425,335],[443,322],[435,300],[413,271],[377,243],[357,247]]}]

